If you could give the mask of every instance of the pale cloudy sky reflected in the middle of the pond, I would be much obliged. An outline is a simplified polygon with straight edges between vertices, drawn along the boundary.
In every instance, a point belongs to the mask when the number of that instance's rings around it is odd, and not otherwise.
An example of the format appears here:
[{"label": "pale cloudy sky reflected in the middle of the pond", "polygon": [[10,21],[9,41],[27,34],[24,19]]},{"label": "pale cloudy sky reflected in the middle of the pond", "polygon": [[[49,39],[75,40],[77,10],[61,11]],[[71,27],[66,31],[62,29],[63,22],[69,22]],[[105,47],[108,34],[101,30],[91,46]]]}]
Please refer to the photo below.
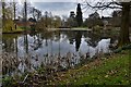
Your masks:
[{"label": "pale cloudy sky reflected in the middle of the pond", "polygon": [[[68,52],[75,53],[75,42],[73,45],[70,44],[69,39],[66,35],[60,35],[60,40],[55,39],[44,39],[41,40],[41,46],[37,50],[33,50],[33,47],[37,46],[34,44],[35,39],[38,39],[35,36],[31,37],[27,35],[28,38],[28,53],[29,54],[38,54],[39,57],[43,57],[44,54],[49,55],[58,55],[60,53],[61,57],[67,55]],[[17,38],[17,47],[19,47],[19,55],[23,57],[25,53],[25,47],[24,47],[24,36]],[[80,49],[82,53],[87,52],[87,42],[84,38],[81,38],[81,45]]]}]

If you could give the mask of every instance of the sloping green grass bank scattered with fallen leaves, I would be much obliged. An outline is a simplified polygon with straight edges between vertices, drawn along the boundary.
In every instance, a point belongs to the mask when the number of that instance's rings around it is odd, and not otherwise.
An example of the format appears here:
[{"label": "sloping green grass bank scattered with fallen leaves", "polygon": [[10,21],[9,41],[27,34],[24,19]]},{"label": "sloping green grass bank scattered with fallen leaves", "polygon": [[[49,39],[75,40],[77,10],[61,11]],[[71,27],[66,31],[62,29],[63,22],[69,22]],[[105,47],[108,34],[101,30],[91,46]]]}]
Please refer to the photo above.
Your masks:
[{"label": "sloping green grass bank scattered with fallen leaves", "polygon": [[95,60],[78,70],[59,73],[61,85],[129,85],[129,52],[123,51],[109,59]]}]

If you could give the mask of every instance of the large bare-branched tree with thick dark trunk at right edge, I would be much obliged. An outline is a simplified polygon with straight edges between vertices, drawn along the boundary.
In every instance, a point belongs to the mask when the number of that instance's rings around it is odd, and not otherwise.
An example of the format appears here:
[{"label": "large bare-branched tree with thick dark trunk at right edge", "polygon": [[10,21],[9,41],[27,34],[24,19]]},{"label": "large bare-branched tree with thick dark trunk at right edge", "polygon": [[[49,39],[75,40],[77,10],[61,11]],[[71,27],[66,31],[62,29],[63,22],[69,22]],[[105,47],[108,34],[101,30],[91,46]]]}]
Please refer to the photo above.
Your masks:
[{"label": "large bare-branched tree with thick dark trunk at right edge", "polygon": [[[124,2],[123,2],[124,1]],[[107,10],[107,9],[121,9],[122,15],[121,15],[121,28],[120,28],[120,36],[118,46],[123,46],[130,44],[129,39],[129,23],[130,23],[130,8],[131,8],[131,1],[130,0],[110,0],[110,1],[93,1],[88,2],[85,0],[85,7],[90,7],[95,10]]]}]

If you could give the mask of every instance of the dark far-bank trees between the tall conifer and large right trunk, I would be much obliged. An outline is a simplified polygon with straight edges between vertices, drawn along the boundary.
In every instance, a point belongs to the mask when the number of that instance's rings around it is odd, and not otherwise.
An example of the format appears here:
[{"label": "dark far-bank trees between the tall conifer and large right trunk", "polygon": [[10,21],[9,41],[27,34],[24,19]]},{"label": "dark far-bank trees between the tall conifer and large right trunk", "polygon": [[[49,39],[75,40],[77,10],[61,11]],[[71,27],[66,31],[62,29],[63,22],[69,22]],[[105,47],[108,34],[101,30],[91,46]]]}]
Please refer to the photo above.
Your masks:
[{"label": "dark far-bank trees between the tall conifer and large right trunk", "polygon": [[[88,17],[83,22],[83,26],[85,27],[94,27],[94,26],[104,26],[105,24],[112,27],[121,26],[121,10],[114,11],[110,16],[102,16],[94,12],[88,15]],[[130,11],[130,25],[131,25],[131,11]]]}]

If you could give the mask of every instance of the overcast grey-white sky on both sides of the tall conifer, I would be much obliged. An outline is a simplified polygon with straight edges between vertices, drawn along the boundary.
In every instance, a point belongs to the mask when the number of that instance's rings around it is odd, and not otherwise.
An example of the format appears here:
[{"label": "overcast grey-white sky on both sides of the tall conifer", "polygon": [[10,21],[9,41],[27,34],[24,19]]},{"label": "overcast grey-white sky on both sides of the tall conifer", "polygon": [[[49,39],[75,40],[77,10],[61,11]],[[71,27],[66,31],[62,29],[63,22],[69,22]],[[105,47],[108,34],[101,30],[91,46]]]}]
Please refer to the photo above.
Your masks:
[{"label": "overcast grey-white sky on both sides of the tall conifer", "polygon": [[[76,13],[76,4],[78,2],[32,2],[32,5],[43,11],[43,14],[45,11],[51,12],[52,15],[64,15],[69,16],[70,11],[74,11]],[[81,5],[81,8],[83,8]],[[88,14],[92,14],[93,10],[84,9],[82,10],[83,17],[88,17]],[[105,11],[98,11],[100,16],[109,16],[111,14],[112,10],[105,10]]]}]

